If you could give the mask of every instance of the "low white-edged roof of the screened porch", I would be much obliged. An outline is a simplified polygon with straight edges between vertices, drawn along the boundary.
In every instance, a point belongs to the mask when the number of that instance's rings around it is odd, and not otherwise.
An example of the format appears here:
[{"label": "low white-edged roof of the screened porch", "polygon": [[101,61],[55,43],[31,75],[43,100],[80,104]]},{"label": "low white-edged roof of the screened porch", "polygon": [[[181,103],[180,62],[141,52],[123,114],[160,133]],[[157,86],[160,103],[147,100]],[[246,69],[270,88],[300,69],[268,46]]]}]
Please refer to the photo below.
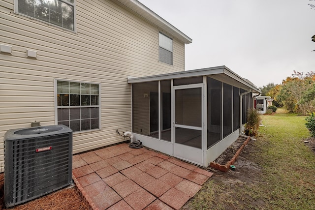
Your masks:
[{"label": "low white-edged roof of the screened porch", "polygon": [[131,78],[128,77],[128,83],[143,83],[143,82],[153,82],[158,80],[170,80],[170,79],[180,79],[188,77],[197,76],[210,76],[221,82],[234,85],[236,87],[242,88],[244,90],[252,89],[253,93],[261,93],[261,91],[248,79],[245,79],[235,72],[231,71],[226,66],[217,66],[210,68],[195,69],[189,71],[180,71],[167,74],[152,75],[146,77]]}]

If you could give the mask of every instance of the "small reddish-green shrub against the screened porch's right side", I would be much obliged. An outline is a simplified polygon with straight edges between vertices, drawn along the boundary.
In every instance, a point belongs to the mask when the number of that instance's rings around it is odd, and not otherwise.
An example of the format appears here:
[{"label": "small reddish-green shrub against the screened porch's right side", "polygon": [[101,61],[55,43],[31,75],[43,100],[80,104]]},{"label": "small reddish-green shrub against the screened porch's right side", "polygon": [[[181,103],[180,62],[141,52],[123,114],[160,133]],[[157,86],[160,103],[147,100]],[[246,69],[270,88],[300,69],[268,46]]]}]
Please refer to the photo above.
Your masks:
[{"label": "small reddish-green shrub against the screened porch's right side", "polygon": [[258,111],[256,109],[249,109],[246,119],[247,122],[244,124],[245,133],[249,136],[256,136],[261,121]]}]

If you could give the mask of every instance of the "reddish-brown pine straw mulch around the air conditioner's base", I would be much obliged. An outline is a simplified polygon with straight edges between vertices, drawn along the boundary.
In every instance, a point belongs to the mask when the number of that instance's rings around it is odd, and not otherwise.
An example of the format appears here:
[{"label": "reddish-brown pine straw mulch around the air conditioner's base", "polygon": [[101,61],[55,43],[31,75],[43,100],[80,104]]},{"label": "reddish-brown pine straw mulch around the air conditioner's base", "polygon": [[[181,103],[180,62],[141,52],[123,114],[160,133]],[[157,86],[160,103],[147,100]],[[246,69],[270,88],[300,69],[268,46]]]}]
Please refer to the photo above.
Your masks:
[{"label": "reddish-brown pine straw mulch around the air conditioner's base", "polygon": [[[0,210],[4,206],[4,174],[0,174]],[[10,210],[92,210],[80,190],[74,185],[63,188],[46,196],[10,208]]]}]

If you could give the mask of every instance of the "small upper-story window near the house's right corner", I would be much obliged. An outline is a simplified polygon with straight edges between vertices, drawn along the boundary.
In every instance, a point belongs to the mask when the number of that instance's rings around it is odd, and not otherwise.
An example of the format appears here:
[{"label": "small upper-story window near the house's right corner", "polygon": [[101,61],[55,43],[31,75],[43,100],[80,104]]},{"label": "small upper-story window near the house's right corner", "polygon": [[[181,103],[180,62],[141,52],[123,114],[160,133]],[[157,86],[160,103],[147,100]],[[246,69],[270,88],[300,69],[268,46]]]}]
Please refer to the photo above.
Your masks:
[{"label": "small upper-story window near the house's right corner", "polygon": [[173,39],[162,32],[158,34],[159,61],[173,65]]}]

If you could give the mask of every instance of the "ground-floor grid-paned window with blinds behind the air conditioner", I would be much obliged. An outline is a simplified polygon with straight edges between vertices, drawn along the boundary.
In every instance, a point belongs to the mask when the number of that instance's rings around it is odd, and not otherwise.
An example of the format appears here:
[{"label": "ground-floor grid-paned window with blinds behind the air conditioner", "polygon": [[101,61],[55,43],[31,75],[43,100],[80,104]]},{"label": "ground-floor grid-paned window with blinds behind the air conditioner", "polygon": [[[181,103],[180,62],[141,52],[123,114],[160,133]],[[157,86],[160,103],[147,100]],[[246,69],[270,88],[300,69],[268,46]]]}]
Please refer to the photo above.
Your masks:
[{"label": "ground-floor grid-paned window with blinds behind the air conditioner", "polygon": [[57,81],[57,121],[73,131],[99,129],[99,85]]}]

